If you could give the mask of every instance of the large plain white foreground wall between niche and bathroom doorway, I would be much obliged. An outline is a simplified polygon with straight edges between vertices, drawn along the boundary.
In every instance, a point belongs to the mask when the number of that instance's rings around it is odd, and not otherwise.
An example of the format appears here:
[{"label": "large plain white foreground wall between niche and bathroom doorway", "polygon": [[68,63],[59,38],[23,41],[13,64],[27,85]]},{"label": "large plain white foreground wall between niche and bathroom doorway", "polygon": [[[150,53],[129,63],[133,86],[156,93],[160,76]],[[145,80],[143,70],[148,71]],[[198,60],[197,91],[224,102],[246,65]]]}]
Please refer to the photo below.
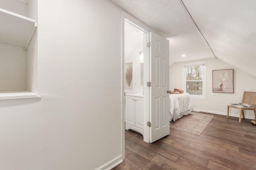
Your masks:
[{"label": "large plain white foreground wall between niche and bathroom doorway", "polygon": [[[47,9],[47,10],[46,10]],[[38,94],[0,102],[0,169],[96,169],[121,160],[121,10],[38,0]]]}]

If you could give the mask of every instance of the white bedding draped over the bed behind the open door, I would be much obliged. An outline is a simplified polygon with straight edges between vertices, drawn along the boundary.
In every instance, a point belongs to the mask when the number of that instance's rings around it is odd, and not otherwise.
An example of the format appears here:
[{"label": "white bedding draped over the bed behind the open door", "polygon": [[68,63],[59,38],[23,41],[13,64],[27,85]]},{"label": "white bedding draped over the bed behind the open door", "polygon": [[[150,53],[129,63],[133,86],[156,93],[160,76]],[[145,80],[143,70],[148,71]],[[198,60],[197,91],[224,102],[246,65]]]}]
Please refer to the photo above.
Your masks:
[{"label": "white bedding draped over the bed behind the open door", "polygon": [[194,109],[188,93],[170,94],[170,121],[188,115]]}]

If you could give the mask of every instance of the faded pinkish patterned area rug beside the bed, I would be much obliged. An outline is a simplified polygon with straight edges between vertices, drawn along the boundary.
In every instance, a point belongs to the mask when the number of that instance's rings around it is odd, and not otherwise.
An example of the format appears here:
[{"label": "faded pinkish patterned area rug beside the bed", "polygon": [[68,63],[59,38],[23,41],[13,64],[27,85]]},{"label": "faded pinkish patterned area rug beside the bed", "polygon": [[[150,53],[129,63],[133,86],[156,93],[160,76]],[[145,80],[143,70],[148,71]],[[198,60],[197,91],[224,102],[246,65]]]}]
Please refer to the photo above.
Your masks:
[{"label": "faded pinkish patterned area rug beside the bed", "polygon": [[200,135],[208,123],[212,120],[213,115],[204,113],[191,112],[184,115],[176,121],[170,122],[170,128],[178,129],[180,131]]}]

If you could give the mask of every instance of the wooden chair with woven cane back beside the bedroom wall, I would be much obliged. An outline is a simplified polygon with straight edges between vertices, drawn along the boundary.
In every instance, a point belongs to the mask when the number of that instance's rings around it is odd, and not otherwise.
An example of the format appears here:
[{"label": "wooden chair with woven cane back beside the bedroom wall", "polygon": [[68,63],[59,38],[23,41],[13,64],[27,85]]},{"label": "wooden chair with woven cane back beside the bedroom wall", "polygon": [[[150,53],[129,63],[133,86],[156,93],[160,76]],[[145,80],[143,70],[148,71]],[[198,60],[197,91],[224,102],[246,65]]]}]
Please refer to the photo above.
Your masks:
[{"label": "wooden chair with woven cane back beside the bedroom wall", "polygon": [[244,110],[253,110],[254,111],[254,120],[256,120],[256,92],[244,92],[242,103],[250,104],[253,107],[244,107],[240,105],[228,104],[227,106],[227,118],[229,107],[239,109],[239,122],[241,122],[241,116],[244,119]]}]

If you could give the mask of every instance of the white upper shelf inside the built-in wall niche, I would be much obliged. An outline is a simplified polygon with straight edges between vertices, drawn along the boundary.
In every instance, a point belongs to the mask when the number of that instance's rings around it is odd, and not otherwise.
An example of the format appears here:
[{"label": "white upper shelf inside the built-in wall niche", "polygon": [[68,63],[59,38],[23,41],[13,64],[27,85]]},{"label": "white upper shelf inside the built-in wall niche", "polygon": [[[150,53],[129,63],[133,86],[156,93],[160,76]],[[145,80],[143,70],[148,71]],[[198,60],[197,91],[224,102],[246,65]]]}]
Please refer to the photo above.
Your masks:
[{"label": "white upper shelf inside the built-in wall niche", "polygon": [[27,50],[36,28],[36,20],[0,8],[0,43]]}]

